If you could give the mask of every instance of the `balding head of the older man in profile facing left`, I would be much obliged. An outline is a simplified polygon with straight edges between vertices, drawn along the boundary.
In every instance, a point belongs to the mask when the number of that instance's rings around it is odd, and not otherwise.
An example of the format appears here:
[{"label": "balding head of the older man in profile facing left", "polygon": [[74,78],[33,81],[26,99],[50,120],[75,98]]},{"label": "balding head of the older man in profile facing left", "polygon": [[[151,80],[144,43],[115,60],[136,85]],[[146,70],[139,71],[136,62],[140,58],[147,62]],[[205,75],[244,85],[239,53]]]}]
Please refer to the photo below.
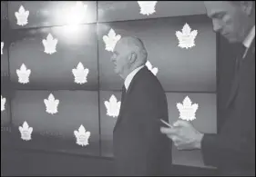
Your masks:
[{"label": "balding head of the older man in profile facing left", "polygon": [[111,60],[116,73],[126,78],[134,69],[146,64],[147,57],[147,50],[138,37],[125,36],[115,45]]}]

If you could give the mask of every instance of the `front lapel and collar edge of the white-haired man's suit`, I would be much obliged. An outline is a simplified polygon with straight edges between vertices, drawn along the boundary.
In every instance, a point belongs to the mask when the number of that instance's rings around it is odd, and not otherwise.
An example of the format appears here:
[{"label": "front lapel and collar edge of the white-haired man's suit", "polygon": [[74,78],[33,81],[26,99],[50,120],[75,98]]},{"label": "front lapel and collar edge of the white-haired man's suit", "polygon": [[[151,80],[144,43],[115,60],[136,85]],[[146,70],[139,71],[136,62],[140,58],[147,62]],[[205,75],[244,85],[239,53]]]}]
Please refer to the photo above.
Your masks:
[{"label": "front lapel and collar edge of the white-haired man's suit", "polygon": [[137,80],[138,80],[138,78],[139,78],[139,75],[140,75],[143,71],[145,71],[145,70],[147,70],[147,69],[148,69],[148,68],[146,68],[146,67],[141,68],[141,69],[138,71],[138,73],[134,76],[134,78],[132,79],[131,83],[129,84],[129,86],[128,86],[128,91],[125,93],[125,96],[124,96],[123,93],[122,93],[120,111],[119,111],[117,123],[116,123],[116,125],[115,125],[115,127],[114,127],[114,132],[115,132],[117,126],[118,126],[118,123],[119,123],[120,120],[122,119],[122,114],[124,113],[124,109],[125,109],[125,107],[126,107],[126,104],[128,103],[129,97],[130,97],[129,95],[130,95],[130,93],[132,92],[132,89],[134,88],[134,85],[136,84],[136,82],[137,82]]}]

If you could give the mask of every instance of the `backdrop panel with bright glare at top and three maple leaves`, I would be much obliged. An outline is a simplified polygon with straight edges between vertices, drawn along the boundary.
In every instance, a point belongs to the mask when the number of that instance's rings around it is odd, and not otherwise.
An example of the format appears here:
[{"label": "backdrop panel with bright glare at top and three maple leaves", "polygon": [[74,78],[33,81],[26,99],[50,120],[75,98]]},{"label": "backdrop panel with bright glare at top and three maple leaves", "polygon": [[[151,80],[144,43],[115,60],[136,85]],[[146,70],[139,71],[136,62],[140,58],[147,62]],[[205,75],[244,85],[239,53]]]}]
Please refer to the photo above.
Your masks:
[{"label": "backdrop panel with bright glare at top and three maple leaves", "polygon": [[[56,53],[46,54],[43,39],[52,34],[58,40]],[[96,25],[79,25],[15,31],[10,46],[10,71],[18,89],[97,89]],[[82,63],[89,70],[87,83],[75,83],[72,69]],[[30,83],[18,83],[16,69],[26,64],[31,70]]]}]

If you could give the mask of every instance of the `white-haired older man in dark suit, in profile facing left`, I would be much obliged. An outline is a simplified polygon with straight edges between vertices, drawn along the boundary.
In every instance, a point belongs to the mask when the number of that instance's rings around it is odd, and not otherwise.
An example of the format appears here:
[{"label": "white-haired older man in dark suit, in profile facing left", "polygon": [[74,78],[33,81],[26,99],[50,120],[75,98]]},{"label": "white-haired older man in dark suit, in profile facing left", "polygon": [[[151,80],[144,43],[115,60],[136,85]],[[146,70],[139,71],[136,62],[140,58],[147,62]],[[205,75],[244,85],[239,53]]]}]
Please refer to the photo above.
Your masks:
[{"label": "white-haired older man in dark suit, in profile facing left", "polygon": [[168,121],[168,103],[157,77],[148,67],[147,51],[137,37],[122,37],[111,61],[125,80],[113,132],[115,170],[119,176],[168,175],[171,142],[160,133]]}]

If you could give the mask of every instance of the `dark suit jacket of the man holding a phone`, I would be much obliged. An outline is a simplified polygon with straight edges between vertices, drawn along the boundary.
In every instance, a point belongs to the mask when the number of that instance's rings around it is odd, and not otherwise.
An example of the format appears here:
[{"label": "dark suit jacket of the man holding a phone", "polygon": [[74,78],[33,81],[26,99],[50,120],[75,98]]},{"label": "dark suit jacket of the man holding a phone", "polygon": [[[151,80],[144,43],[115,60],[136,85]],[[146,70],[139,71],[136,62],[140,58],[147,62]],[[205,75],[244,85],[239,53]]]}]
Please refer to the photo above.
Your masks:
[{"label": "dark suit jacket of the man holding a phone", "polygon": [[222,175],[255,175],[255,39],[241,59],[220,133],[205,134],[202,154]]}]

